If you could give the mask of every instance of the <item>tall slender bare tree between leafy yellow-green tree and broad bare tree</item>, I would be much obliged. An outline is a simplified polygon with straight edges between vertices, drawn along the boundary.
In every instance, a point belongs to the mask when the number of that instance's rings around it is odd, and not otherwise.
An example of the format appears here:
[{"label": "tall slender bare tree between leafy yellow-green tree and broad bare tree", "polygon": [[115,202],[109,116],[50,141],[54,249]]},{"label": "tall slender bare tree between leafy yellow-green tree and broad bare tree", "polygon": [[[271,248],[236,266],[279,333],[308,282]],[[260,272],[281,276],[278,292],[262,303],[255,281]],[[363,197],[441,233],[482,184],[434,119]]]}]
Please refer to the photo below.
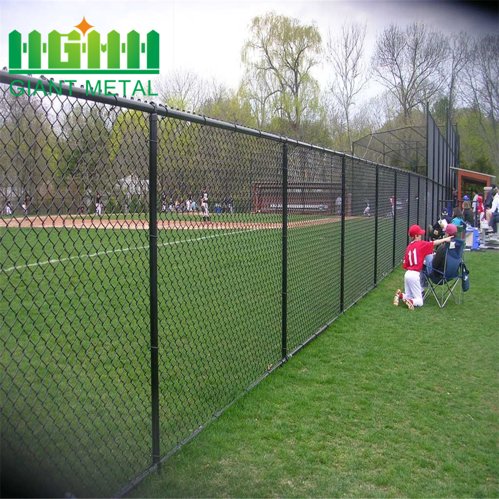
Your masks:
[{"label": "tall slender bare tree between leafy yellow-green tree and broad bare tree", "polygon": [[343,110],[348,135],[349,150],[352,150],[351,107],[355,98],[367,83],[363,60],[365,24],[343,24],[337,36],[328,33],[327,60],[333,68],[333,81],[329,90]]}]

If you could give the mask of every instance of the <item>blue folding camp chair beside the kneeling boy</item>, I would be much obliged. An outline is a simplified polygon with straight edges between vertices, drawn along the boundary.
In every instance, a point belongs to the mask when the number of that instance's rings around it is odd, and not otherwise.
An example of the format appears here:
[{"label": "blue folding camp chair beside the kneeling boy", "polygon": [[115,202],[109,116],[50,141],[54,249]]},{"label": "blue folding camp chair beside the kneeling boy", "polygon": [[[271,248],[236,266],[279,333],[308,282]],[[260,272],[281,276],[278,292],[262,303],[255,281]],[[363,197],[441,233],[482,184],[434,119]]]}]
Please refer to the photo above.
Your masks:
[{"label": "blue folding camp chair beside the kneeling boy", "polygon": [[[464,239],[454,239],[450,243],[445,243],[444,271],[433,269],[430,275],[424,274],[427,289],[423,295],[423,300],[433,294],[440,308],[445,307],[451,296],[457,304],[461,303],[465,245]],[[459,290],[456,289],[458,286]]]}]

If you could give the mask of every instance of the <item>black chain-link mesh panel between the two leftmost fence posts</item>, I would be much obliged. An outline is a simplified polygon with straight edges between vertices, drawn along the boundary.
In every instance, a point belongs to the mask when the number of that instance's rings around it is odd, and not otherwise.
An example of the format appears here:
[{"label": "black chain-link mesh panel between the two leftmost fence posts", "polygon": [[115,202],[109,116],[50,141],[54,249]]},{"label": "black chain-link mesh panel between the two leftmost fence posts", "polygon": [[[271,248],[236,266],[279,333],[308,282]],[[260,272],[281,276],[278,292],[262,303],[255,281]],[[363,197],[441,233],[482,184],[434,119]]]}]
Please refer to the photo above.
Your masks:
[{"label": "black chain-link mesh panel between the two leftmost fence posts", "polygon": [[[166,453],[280,360],[282,210],[272,205],[282,146],[161,118],[158,159],[168,201],[158,222]],[[274,199],[257,208],[255,186]]]}]

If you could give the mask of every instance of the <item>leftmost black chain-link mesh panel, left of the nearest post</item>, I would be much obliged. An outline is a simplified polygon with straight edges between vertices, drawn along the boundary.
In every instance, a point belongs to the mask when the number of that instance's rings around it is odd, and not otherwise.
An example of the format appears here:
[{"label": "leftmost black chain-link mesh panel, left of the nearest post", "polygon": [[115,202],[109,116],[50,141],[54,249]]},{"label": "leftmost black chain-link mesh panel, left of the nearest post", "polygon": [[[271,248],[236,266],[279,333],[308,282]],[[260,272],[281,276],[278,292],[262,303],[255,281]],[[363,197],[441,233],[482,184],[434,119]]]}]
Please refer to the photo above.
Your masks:
[{"label": "leftmost black chain-link mesh panel, left of the nearest post", "polygon": [[2,92],[2,463],[108,495],[149,464],[147,116]]}]

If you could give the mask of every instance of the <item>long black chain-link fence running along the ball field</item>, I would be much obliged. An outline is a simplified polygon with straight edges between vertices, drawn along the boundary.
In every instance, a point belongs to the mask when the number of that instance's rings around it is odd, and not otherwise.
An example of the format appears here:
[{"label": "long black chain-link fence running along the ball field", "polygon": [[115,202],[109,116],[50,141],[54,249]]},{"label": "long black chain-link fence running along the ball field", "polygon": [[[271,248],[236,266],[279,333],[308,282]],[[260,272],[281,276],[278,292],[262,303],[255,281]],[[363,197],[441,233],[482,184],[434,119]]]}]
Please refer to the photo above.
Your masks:
[{"label": "long black chain-link fence running along the ball field", "polygon": [[27,494],[126,494],[398,265],[445,188],[0,76],[1,475]]}]

